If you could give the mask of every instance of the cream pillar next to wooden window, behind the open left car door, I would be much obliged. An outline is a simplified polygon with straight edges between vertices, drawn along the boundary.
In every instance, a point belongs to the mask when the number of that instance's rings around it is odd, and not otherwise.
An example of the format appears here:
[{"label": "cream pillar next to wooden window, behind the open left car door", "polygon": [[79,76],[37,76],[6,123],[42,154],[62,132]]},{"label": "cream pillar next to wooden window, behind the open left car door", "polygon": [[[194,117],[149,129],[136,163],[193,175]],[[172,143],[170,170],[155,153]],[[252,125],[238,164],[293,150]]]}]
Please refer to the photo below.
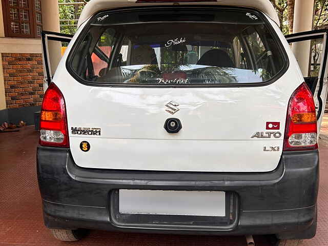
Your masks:
[{"label": "cream pillar next to wooden window, behind the open left car door", "polygon": [[[44,31],[60,32],[58,0],[41,0],[42,26]],[[49,58],[52,75],[56,71],[61,58],[61,44],[49,41]]]}]

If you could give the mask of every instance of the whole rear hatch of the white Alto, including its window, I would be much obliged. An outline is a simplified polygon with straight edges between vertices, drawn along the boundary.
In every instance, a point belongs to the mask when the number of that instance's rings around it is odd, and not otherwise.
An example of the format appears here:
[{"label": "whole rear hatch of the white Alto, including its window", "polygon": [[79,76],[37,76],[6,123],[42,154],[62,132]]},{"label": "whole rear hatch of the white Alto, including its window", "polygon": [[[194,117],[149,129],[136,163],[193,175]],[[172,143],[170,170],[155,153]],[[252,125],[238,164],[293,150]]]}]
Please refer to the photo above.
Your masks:
[{"label": "whole rear hatch of the white Alto, including its window", "polygon": [[[285,73],[286,53],[269,21],[250,9],[204,7],[92,17],[68,57],[69,79],[59,85],[76,164],[274,170],[288,102],[301,81]],[[170,118],[181,122],[177,133],[165,129]]]}]

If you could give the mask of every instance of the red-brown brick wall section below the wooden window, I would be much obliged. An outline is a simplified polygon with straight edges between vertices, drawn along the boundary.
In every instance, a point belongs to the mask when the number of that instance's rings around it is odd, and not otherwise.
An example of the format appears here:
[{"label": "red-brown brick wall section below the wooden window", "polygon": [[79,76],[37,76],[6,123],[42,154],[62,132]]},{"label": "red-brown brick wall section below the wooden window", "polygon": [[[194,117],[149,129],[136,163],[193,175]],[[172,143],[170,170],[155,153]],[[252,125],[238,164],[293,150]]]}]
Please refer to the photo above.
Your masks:
[{"label": "red-brown brick wall section below the wooden window", "polygon": [[7,108],[41,105],[42,54],[2,53],[2,64]]}]

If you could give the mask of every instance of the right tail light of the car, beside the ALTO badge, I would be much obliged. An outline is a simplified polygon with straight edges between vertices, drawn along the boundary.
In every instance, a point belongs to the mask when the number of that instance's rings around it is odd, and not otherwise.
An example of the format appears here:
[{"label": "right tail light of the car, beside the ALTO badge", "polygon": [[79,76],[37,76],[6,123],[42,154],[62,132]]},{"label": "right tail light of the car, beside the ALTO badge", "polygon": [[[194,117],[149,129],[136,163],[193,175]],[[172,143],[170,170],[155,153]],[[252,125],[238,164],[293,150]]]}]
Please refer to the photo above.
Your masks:
[{"label": "right tail light of the car, beside the ALTO badge", "polygon": [[289,101],[283,150],[317,149],[317,133],[313,96],[309,87],[303,83]]}]

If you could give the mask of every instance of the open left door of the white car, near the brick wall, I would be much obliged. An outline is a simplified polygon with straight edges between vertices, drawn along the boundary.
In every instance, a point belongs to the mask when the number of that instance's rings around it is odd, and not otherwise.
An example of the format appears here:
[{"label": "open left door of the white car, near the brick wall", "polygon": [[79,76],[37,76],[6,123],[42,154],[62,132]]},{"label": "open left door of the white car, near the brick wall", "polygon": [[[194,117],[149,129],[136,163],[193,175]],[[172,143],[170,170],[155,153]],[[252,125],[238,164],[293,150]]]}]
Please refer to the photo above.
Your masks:
[{"label": "open left door of the white car, near the brick wall", "polygon": [[[44,65],[44,90],[51,83],[53,74],[56,71],[59,60],[64,54],[66,47],[70,43],[73,35],[59,32],[42,32],[42,53]],[[54,61],[54,62],[50,62]]]}]

